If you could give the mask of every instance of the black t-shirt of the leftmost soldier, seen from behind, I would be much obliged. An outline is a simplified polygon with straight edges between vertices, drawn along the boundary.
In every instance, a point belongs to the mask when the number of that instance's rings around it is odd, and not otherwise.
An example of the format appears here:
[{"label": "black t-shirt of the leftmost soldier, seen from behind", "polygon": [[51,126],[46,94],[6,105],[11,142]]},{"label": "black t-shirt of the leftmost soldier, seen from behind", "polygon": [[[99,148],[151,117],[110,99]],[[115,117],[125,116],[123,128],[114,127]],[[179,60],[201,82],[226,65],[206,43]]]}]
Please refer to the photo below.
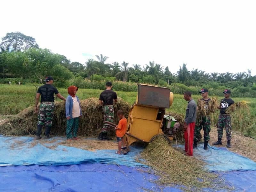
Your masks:
[{"label": "black t-shirt of the leftmost soldier, seen from behind", "polygon": [[43,101],[54,101],[54,93],[57,95],[58,90],[50,84],[45,84],[38,88],[37,93],[41,94],[41,102]]}]

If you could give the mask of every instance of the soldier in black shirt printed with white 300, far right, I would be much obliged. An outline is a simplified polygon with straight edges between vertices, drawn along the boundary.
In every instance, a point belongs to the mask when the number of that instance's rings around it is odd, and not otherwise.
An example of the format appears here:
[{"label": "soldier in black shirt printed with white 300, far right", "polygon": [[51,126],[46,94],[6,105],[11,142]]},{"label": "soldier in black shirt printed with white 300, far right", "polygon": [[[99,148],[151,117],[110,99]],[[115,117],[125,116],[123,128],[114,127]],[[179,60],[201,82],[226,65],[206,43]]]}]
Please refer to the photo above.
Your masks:
[{"label": "soldier in black shirt printed with white 300, far right", "polygon": [[221,139],[223,134],[223,128],[226,129],[226,136],[227,136],[227,147],[231,147],[231,117],[230,115],[226,114],[226,110],[230,107],[230,105],[234,104],[235,102],[230,98],[231,91],[228,89],[224,90],[224,99],[220,100],[220,115],[218,120],[218,141],[213,143],[213,145],[222,145]]}]

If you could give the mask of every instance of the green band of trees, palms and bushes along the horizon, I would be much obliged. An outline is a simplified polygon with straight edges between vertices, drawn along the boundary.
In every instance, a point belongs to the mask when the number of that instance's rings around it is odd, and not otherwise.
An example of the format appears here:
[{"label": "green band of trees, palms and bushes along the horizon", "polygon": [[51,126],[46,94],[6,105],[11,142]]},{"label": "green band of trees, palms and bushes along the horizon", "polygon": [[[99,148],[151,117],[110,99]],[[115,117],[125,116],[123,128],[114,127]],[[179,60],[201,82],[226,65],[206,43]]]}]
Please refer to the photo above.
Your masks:
[{"label": "green band of trees, palms and bushes along the horizon", "polygon": [[[104,82],[115,82],[116,91],[136,91],[137,83],[157,84],[168,87],[174,93],[191,91],[197,94],[202,87],[208,88],[212,95],[221,96],[226,88],[232,90],[233,97],[256,97],[256,76],[250,69],[236,74],[206,73],[199,69],[189,71],[182,64],[179,71],[170,71],[155,61],[148,64],[113,62],[108,57],[96,55],[97,60],[86,63],[71,62],[64,55],[52,53],[49,49],[40,49],[33,37],[20,32],[7,33],[0,43],[0,83],[22,84],[42,83],[45,76],[51,75],[57,87],[67,88],[75,84],[85,89],[103,89]],[[171,64],[168,64],[171,66]],[[124,83],[120,83],[120,81]],[[73,82],[73,83],[71,83]],[[129,82],[129,83],[128,83]]]}]

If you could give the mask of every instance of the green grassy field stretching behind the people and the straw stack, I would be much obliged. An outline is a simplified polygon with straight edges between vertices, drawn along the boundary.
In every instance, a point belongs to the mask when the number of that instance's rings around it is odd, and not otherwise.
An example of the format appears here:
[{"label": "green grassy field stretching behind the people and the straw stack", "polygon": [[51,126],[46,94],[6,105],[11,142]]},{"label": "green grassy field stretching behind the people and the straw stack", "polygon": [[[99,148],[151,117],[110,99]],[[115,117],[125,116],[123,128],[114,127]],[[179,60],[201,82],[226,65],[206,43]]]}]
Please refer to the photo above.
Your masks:
[{"label": "green grassy field stretching behind the people and the straw stack", "polygon": [[[64,97],[68,96],[67,89],[58,89],[60,94]],[[77,96],[80,100],[90,97],[99,98],[103,90],[97,89],[79,89]],[[137,92],[121,92],[117,91],[117,96],[131,105],[135,102]],[[0,84],[0,115],[15,115],[21,110],[33,106],[35,103],[36,87],[33,85],[7,85]],[[210,96],[211,97],[211,96]],[[200,95],[193,95],[195,101],[201,98]],[[222,97],[218,97],[221,99]],[[242,131],[245,135],[256,138],[256,99],[254,98],[232,98],[235,102],[241,100],[249,101],[250,116],[243,114],[236,114],[232,117],[233,129]],[[57,99],[61,101],[60,99]],[[174,94],[174,101],[172,106],[166,110],[168,112],[175,112],[185,114],[187,102],[183,99],[183,95]],[[243,118],[243,121],[241,120]],[[218,111],[214,115],[214,121],[218,118]]]}]

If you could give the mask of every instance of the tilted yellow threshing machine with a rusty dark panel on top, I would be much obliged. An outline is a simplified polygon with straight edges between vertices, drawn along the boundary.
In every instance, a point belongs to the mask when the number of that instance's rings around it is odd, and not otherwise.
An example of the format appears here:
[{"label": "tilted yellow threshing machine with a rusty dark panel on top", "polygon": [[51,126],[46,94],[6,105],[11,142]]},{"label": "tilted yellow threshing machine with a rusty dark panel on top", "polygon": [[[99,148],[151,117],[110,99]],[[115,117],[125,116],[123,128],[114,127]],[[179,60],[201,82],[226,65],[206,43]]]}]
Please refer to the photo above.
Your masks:
[{"label": "tilted yellow threshing machine with a rusty dark panel on top", "polygon": [[[163,118],[165,108],[173,102],[173,93],[170,89],[146,84],[138,84],[137,99],[130,109],[126,146],[135,141],[150,142],[158,134],[164,134]],[[172,136],[168,136],[170,140]]]}]

